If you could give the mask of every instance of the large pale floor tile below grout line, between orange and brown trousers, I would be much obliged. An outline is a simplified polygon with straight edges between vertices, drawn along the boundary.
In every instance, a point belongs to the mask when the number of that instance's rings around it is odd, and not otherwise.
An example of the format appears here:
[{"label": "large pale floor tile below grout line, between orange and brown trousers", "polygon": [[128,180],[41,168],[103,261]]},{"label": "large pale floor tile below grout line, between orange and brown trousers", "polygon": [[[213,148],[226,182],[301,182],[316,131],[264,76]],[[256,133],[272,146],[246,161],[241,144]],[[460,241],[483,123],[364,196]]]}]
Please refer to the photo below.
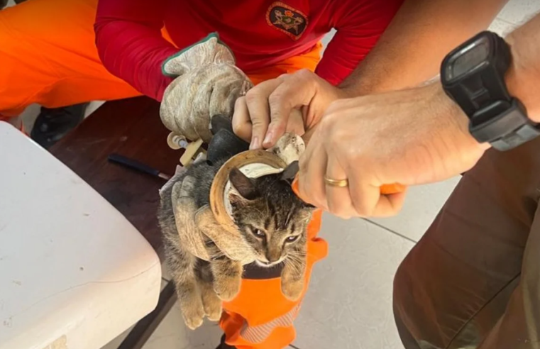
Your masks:
[{"label": "large pale floor tile below grout line, between orange and brown trousers", "polygon": [[392,279],[414,245],[360,219],[325,216],[329,256],[315,266],[294,345],[305,349],[402,348],[392,316]]}]

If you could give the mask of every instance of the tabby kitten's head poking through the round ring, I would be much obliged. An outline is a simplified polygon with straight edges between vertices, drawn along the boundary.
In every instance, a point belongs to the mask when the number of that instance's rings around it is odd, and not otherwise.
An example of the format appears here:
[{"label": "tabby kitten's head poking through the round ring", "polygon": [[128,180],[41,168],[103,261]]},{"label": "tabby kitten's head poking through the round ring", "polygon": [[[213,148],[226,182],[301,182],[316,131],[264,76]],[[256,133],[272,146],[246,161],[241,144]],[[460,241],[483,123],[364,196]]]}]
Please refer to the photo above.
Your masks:
[{"label": "tabby kitten's head poking through the round ring", "polygon": [[237,169],[229,174],[234,189],[229,194],[233,220],[255,251],[255,261],[277,265],[287,258],[302,258],[306,228],[313,206],[292,192],[280,174],[250,179]]}]

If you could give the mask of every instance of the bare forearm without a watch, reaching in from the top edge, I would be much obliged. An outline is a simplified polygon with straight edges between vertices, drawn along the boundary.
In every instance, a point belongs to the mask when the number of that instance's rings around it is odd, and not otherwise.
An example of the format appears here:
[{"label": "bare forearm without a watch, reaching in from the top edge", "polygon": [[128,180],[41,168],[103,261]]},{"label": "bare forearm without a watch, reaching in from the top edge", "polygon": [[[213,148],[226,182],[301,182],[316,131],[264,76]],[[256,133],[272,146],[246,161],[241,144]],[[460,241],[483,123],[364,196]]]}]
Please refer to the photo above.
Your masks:
[{"label": "bare forearm without a watch, reaching in from the top edge", "polygon": [[443,57],[484,30],[507,0],[406,0],[365,60],[341,84],[358,96],[414,87]]}]

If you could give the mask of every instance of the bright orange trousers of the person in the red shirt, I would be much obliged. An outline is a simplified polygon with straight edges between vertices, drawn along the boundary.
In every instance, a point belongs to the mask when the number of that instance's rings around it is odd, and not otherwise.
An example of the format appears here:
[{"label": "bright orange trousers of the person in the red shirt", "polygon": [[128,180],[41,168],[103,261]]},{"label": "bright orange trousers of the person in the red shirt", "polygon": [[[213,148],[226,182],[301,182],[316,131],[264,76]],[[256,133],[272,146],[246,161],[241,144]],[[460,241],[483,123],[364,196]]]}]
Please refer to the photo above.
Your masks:
[{"label": "bright orange trousers of the person in the red shirt", "polygon": [[[92,26],[96,8],[97,0],[28,0],[0,11],[0,120],[33,103],[54,108],[140,94],[101,65]],[[168,38],[165,30],[163,35]],[[246,73],[257,84],[302,68],[313,71],[320,50],[316,45]],[[326,255],[326,242],[316,238],[320,223],[319,212],[309,225],[306,284],[314,262]],[[279,349],[294,339],[299,301],[285,299],[279,278],[244,279],[224,309],[221,327],[238,349]]]}]

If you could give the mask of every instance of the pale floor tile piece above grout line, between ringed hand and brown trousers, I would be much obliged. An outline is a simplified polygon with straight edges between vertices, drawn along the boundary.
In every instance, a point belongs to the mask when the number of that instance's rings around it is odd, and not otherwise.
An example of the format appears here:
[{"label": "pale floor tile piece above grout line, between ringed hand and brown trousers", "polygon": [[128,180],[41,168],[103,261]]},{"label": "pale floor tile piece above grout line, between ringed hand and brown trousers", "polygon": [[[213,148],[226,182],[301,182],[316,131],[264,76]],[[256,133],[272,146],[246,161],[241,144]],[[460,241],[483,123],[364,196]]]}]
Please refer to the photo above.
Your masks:
[{"label": "pale floor tile piece above grout line, between ringed hand and brown trousers", "polygon": [[409,188],[402,211],[390,218],[370,218],[370,221],[418,241],[452,193],[461,177],[444,182]]}]

